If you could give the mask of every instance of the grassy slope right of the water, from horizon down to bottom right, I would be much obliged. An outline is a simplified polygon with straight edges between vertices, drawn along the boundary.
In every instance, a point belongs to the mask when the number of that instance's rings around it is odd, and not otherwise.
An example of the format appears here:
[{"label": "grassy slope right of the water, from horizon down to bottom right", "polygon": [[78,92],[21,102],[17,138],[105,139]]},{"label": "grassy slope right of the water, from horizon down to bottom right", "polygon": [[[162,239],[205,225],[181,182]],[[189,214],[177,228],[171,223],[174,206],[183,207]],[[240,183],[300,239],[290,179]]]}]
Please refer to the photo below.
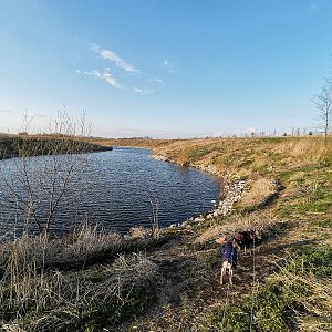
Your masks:
[{"label": "grassy slope right of the water, from horizon down to bottom right", "polygon": [[[136,321],[132,330],[330,331],[331,139],[328,143],[326,148],[319,137],[144,142],[143,147],[169,160],[236,175],[248,185],[232,216],[194,226],[168,253],[152,255],[174,284],[166,290],[173,298],[162,314]],[[266,224],[255,262],[252,257],[240,260],[237,287],[231,289],[217,283],[219,249],[214,243],[218,234],[231,229],[227,224]]]}]

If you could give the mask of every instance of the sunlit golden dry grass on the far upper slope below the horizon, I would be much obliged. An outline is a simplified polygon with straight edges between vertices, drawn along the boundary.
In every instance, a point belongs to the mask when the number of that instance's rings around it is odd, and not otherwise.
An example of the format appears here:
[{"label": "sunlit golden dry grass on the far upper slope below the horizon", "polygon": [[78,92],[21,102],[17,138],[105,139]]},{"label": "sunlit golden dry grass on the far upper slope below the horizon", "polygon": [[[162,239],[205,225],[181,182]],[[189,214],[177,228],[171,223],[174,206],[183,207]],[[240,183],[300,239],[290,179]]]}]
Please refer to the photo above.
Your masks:
[{"label": "sunlit golden dry grass on the far upper slope below the horizon", "polygon": [[[135,141],[132,146],[139,143]],[[131,145],[129,139],[126,145]],[[321,160],[332,152],[332,137],[329,137],[328,148],[323,137],[149,141],[148,146],[146,142],[141,146],[181,165],[214,166],[218,175],[237,173],[248,177],[264,169],[272,176],[274,170],[284,167]]]}]

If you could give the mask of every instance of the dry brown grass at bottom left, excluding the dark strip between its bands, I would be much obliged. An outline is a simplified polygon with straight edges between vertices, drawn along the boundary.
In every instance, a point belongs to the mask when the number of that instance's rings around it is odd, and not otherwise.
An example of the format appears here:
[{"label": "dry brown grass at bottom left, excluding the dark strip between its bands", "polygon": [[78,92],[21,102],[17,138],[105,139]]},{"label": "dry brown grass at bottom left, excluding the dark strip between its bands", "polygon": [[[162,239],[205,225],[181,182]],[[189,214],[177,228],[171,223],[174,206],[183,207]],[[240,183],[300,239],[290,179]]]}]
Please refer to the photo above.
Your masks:
[{"label": "dry brown grass at bottom left, excluding the dark strip between its bands", "polygon": [[[64,331],[91,308],[113,303],[116,311],[131,305],[132,292],[155,286],[160,279],[157,266],[145,255],[118,255],[111,264],[76,271],[59,271],[45,267],[59,260],[69,263],[85,257],[103,255],[114,247],[126,249],[128,241],[141,243],[137,229],[128,237],[105,232],[86,224],[70,238],[23,237],[0,248],[1,331]],[[136,245],[136,246],[137,246]],[[97,280],[91,282],[90,280]],[[135,299],[134,301],[138,301]],[[33,318],[24,322],[27,313]],[[103,310],[101,310],[103,312]],[[13,314],[15,313],[15,314]],[[17,320],[15,320],[17,319]],[[25,330],[27,328],[27,330]],[[58,330],[56,330],[58,331]]]}]

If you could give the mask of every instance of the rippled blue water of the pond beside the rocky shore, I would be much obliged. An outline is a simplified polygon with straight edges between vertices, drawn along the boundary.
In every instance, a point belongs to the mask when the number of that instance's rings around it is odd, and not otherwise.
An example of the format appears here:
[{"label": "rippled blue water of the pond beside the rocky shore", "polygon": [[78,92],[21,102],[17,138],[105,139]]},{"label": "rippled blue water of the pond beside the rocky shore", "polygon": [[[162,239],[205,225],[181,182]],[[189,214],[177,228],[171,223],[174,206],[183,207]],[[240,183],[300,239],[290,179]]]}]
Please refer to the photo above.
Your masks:
[{"label": "rippled blue water of the pond beside the rocky shore", "polygon": [[[33,167],[41,168],[45,158],[49,157],[33,157]],[[218,199],[220,194],[217,177],[155,160],[147,149],[116,147],[111,152],[90,154],[89,158],[87,169],[79,185],[73,187],[75,199],[66,199],[55,215],[52,229],[58,232],[84,217],[118,231],[126,231],[135,225],[149,227],[151,201],[155,206],[158,204],[160,226],[169,226],[211,209],[211,200]],[[7,169],[13,169],[17,162],[1,163],[6,163]],[[0,191],[1,195],[4,194]],[[13,204],[6,204],[3,196],[0,201],[2,224],[19,225],[19,209]]]}]

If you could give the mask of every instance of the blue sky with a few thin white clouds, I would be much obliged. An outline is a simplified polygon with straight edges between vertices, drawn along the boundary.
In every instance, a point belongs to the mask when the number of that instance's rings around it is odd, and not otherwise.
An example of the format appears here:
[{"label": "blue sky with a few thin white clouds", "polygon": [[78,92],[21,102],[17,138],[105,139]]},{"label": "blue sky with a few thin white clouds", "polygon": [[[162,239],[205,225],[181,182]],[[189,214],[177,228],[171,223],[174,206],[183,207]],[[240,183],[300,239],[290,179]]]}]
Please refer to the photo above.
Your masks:
[{"label": "blue sky with a few thin white clouds", "polygon": [[0,0],[0,133],[309,131],[331,54],[332,0]]}]

